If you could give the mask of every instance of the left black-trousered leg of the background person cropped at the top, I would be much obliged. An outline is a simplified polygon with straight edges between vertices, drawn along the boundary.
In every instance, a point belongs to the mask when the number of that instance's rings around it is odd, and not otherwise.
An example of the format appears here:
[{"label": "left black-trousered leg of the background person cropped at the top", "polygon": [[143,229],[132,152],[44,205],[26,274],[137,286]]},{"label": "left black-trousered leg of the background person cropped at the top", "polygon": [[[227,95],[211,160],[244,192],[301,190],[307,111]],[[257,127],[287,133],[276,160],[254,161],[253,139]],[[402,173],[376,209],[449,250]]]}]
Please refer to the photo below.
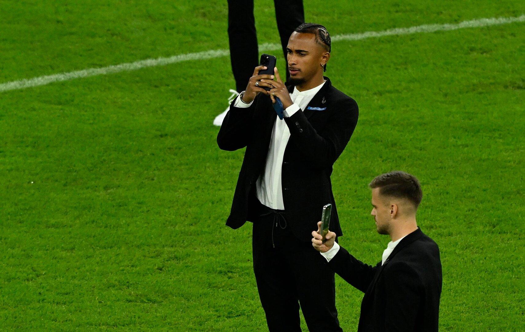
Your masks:
[{"label": "left black-trousered leg of the background person cropped at the top", "polygon": [[228,0],[228,39],[235,88],[242,92],[259,63],[253,0]]}]

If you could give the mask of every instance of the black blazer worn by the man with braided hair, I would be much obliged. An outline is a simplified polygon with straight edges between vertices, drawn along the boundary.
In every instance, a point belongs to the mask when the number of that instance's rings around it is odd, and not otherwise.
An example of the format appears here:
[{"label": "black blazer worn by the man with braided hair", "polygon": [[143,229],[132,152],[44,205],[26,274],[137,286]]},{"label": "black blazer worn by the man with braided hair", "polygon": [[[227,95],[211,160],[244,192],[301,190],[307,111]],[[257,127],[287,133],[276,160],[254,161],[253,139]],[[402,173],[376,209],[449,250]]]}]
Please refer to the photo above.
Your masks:
[{"label": "black blazer worn by the man with braided hair", "polygon": [[[328,77],[306,110],[284,118],[290,139],[282,163],[282,199],[295,236],[311,241],[322,207],[332,204],[330,230],[342,235],[332,194],[332,165],[343,152],[358,122],[358,105],[334,88]],[[293,91],[293,86],[287,86]],[[246,147],[226,225],[237,229],[256,220],[255,183],[264,171],[277,113],[269,96],[259,94],[248,108],[230,105],[217,134],[220,149]]]}]

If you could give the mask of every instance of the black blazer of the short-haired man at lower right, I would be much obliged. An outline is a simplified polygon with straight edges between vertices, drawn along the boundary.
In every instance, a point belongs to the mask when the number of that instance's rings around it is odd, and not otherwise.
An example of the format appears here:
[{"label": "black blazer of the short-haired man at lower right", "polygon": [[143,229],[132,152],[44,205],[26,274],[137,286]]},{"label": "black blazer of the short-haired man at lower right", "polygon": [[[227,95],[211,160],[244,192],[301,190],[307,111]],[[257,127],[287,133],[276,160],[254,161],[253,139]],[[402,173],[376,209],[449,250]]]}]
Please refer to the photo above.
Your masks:
[{"label": "black blazer of the short-haired man at lower right", "polygon": [[438,330],[439,248],[419,227],[396,245],[383,265],[366,265],[343,247],[328,265],[364,292],[358,331]]}]

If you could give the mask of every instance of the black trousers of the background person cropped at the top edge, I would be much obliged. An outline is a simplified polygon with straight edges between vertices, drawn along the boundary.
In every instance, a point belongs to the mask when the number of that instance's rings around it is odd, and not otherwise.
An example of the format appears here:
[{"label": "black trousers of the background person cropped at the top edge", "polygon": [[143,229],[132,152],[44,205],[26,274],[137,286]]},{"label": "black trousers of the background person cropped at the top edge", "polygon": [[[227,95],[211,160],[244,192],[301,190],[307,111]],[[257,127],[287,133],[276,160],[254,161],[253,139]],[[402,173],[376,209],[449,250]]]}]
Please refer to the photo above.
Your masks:
[{"label": "black trousers of the background person cropped at the top edge", "polygon": [[[304,23],[304,9],[302,0],[274,0],[274,4],[283,59],[286,62],[284,71],[288,80],[290,73],[286,46],[293,30]],[[253,0],[228,0],[228,38],[235,88],[237,92],[241,92],[246,89],[255,67],[259,65]],[[282,75],[283,70],[280,69],[279,72]]]}]

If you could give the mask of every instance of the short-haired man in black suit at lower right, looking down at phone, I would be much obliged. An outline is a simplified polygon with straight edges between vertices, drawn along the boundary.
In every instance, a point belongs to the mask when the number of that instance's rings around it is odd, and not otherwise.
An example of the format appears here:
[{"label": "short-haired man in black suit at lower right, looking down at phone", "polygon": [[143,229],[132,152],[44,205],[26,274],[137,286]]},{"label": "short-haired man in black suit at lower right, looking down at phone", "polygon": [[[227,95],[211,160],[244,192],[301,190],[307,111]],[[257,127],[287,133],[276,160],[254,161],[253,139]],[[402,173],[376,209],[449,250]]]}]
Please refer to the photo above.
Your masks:
[{"label": "short-haired man in black suit at lower right, looking down at phone", "polygon": [[370,188],[377,232],[392,240],[381,262],[371,266],[357,260],[334,242],[334,232],[325,243],[312,232],[312,245],[335,273],[364,292],[358,331],[437,331],[441,261],[437,244],[416,224],[423,197],[419,181],[395,171],[379,175]]}]

